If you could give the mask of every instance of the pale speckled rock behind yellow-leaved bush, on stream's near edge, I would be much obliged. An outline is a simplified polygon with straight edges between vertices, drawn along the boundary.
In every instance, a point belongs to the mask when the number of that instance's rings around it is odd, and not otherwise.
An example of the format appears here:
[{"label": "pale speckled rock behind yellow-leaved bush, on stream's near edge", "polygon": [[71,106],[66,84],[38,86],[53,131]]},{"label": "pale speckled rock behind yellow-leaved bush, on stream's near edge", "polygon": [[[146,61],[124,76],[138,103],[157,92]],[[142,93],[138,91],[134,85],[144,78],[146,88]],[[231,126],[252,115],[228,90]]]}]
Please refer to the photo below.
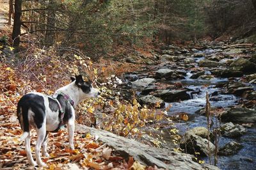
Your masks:
[{"label": "pale speckled rock behind yellow-leaved bush, on stream's near edge", "polygon": [[161,98],[154,97],[153,95],[147,95],[139,98],[141,105],[149,105],[150,107],[156,107],[156,104],[159,103],[160,108],[163,108],[165,103]]}]

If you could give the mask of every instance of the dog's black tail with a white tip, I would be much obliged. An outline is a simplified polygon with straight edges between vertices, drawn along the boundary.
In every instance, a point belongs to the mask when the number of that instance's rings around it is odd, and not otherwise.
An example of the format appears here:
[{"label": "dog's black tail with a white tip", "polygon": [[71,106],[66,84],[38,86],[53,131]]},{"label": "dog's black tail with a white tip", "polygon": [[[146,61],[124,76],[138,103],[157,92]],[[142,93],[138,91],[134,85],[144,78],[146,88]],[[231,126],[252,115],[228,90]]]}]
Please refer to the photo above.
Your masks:
[{"label": "dog's black tail with a white tip", "polygon": [[23,134],[20,137],[20,141],[23,141],[29,135],[29,121],[28,121],[28,108],[22,107],[22,98],[18,103],[17,116],[20,123],[20,127],[23,130]]}]

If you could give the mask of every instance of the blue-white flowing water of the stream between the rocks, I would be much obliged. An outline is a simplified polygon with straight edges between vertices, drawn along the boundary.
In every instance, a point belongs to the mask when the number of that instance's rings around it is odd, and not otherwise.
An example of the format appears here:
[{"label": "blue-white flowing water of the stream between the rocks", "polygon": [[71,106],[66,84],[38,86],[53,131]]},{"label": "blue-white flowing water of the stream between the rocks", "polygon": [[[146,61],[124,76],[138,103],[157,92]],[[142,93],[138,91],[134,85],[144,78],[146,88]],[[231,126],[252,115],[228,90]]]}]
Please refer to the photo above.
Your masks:
[{"label": "blue-white flowing water of the stream between the rocks", "polygon": [[[212,51],[211,51],[212,52]],[[196,62],[204,58],[197,58]],[[188,89],[193,89],[194,91],[200,91],[198,94],[193,94],[193,98],[190,100],[185,100],[182,102],[172,102],[166,103],[166,105],[172,104],[168,114],[172,116],[178,112],[188,113],[188,121],[179,121],[176,124],[176,127],[179,128],[180,133],[184,134],[186,130],[194,127],[207,127],[207,118],[206,116],[201,116],[195,112],[198,109],[205,107],[205,95],[208,92],[210,95],[218,91],[218,101],[210,101],[211,107],[230,107],[237,104],[239,98],[234,95],[223,95],[221,94],[220,88],[215,88],[216,84],[227,82],[227,79],[218,79],[214,78],[211,80],[200,80],[200,79],[189,79],[191,73],[188,72],[186,79],[179,80],[184,86]],[[171,81],[170,83],[177,82]],[[236,139],[230,139],[227,137],[221,137],[219,146],[224,146],[230,141],[236,141],[243,145],[237,154],[230,155],[227,157],[219,156],[218,157],[218,167],[220,169],[256,169],[256,125],[252,128],[248,128],[248,132]],[[209,158],[204,158],[205,162],[209,163]],[[213,162],[213,161],[212,161]]]}]

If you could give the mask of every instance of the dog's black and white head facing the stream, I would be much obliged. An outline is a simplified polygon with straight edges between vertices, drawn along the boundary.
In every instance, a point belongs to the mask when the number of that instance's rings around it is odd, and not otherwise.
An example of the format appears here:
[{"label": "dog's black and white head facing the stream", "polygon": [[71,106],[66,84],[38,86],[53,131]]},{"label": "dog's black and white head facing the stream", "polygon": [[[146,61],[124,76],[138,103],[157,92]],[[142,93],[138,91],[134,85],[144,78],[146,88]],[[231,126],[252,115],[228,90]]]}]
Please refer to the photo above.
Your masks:
[{"label": "dog's black and white head facing the stream", "polygon": [[75,86],[78,88],[81,100],[85,98],[95,98],[99,96],[99,90],[93,88],[90,82],[84,81],[82,75],[76,75],[76,77],[70,77],[70,79],[72,82],[75,81]]}]

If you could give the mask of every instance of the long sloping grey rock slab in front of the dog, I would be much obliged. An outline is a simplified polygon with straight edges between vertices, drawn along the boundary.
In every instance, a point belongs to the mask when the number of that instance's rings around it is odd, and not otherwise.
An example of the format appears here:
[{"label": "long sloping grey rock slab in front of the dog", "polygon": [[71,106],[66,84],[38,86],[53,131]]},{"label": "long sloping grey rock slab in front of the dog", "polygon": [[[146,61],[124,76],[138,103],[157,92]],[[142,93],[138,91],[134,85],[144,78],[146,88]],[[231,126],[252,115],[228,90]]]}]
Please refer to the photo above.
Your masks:
[{"label": "long sloping grey rock slab in front of the dog", "polygon": [[[113,148],[121,157],[133,157],[134,160],[147,166],[156,165],[158,168],[164,169],[173,169],[173,167],[175,169],[204,169],[200,164],[193,162],[192,155],[177,153],[164,148],[155,148],[132,139],[120,137],[106,130],[86,127],[84,125],[76,125],[76,131],[95,135],[99,141]],[[206,165],[205,169],[206,167],[209,167],[209,165]],[[209,168],[216,169],[217,167],[210,166]]]}]

